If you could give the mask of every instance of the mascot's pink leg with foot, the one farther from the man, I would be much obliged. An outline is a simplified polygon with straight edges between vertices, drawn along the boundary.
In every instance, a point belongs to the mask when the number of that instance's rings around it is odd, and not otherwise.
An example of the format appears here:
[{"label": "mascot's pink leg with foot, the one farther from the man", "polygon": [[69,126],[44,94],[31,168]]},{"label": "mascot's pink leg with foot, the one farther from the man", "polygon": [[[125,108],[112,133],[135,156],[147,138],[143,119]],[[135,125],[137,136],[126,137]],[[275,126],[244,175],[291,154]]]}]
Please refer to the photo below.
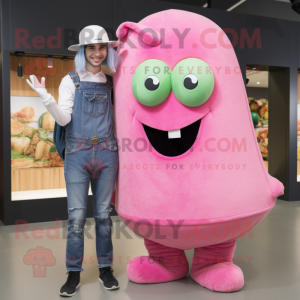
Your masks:
[{"label": "mascot's pink leg with foot, the one farther from the man", "polygon": [[218,292],[234,292],[244,285],[242,270],[233,264],[236,241],[196,248],[191,277],[200,285]]}]

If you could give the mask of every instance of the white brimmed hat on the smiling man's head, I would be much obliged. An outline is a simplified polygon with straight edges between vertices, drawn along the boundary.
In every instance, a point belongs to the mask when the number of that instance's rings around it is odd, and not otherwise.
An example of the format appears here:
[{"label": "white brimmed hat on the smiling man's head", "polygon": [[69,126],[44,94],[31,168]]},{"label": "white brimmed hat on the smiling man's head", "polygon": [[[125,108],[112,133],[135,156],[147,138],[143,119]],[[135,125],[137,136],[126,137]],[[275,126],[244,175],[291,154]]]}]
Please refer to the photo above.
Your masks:
[{"label": "white brimmed hat on the smiling man's head", "polygon": [[70,51],[79,51],[80,47],[88,44],[109,43],[112,47],[118,47],[123,44],[120,41],[110,41],[106,30],[98,25],[84,27],[79,33],[79,44],[68,48]]}]

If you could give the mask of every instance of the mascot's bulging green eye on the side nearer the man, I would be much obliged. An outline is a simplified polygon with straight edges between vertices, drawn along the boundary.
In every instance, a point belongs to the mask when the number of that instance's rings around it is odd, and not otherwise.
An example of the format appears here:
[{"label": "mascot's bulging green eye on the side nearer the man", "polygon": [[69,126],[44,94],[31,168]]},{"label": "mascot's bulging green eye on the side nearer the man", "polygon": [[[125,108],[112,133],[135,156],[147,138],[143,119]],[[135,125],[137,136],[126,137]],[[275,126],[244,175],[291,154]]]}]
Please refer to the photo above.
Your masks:
[{"label": "mascot's bulging green eye on the side nearer the man", "polygon": [[135,70],[131,88],[134,97],[146,106],[163,103],[171,92],[171,71],[159,59],[143,61]]}]

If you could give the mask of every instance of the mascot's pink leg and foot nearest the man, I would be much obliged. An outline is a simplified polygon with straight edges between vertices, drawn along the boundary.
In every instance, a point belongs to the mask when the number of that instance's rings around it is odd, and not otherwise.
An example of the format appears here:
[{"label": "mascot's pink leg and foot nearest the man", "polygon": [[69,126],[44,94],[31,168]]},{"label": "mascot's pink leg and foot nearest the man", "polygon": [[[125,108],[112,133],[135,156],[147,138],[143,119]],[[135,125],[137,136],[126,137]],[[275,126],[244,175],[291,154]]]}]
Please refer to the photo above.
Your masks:
[{"label": "mascot's pink leg and foot nearest the man", "polygon": [[138,256],[127,266],[128,278],[136,283],[158,283],[185,277],[189,264],[183,250],[145,239],[149,256]]}]

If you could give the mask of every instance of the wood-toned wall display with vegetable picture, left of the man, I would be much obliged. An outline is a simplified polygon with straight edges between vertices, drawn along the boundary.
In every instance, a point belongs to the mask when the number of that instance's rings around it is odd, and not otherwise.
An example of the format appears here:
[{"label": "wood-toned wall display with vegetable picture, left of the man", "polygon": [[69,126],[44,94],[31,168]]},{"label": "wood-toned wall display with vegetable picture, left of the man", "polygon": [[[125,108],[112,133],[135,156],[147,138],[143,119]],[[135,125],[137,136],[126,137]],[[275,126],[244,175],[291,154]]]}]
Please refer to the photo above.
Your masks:
[{"label": "wood-toned wall display with vegetable picture, left of the man", "polygon": [[[66,197],[64,161],[53,141],[55,120],[38,94],[27,84],[29,75],[45,86],[58,102],[58,88],[64,76],[74,69],[74,59],[61,60],[47,56],[20,59],[23,78],[18,78],[19,60],[10,56],[11,82],[11,192],[12,201]],[[91,191],[90,191],[91,194]]]}]

